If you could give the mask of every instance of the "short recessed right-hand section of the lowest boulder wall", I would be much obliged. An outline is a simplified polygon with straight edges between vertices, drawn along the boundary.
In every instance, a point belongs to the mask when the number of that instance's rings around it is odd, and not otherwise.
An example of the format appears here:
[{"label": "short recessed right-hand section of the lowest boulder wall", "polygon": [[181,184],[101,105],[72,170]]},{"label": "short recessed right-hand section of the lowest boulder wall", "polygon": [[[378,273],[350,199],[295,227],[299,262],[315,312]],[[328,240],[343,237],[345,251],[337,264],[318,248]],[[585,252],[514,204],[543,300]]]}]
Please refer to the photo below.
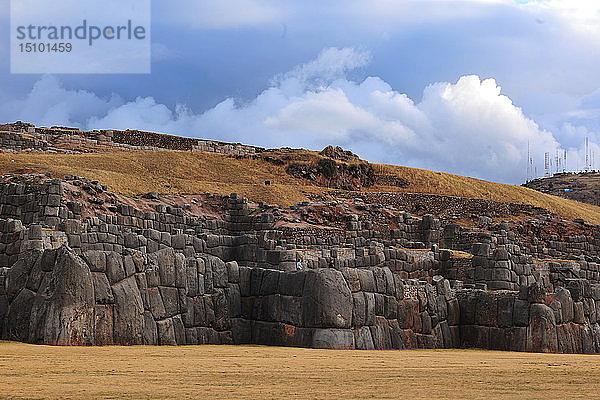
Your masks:
[{"label": "short recessed right-hand section of the lowest boulder wall", "polygon": [[571,285],[546,293],[534,283],[519,292],[463,291],[460,345],[492,350],[598,353],[600,286]]}]

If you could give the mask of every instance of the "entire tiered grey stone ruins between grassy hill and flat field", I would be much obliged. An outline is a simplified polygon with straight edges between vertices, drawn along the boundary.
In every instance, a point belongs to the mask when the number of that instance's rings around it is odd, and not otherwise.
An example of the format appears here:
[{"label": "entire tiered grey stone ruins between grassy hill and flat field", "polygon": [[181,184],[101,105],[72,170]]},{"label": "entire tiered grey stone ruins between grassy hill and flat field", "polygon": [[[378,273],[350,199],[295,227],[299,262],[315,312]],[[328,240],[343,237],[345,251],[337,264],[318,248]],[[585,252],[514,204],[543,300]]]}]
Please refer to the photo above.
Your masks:
[{"label": "entire tiered grey stone ruins between grassy hill and flat field", "polygon": [[367,211],[286,227],[235,194],[214,199],[222,217],[118,199],[90,214],[78,180],[0,184],[2,339],[600,352],[597,226],[382,219],[347,199],[293,209]]}]

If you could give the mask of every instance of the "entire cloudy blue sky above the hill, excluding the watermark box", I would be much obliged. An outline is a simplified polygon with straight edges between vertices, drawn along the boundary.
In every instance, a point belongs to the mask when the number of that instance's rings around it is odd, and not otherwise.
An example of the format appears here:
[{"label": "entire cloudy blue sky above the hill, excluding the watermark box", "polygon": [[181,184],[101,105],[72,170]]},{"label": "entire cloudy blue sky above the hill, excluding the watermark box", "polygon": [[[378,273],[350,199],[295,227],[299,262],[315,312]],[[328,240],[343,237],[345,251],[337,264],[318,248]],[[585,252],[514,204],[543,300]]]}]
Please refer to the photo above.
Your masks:
[{"label": "entire cloudy blue sky above the hill, excluding the watermark box", "polygon": [[527,144],[600,164],[600,6],[582,0],[154,1],[149,75],[11,75],[0,120],[349,148],[507,183]]}]

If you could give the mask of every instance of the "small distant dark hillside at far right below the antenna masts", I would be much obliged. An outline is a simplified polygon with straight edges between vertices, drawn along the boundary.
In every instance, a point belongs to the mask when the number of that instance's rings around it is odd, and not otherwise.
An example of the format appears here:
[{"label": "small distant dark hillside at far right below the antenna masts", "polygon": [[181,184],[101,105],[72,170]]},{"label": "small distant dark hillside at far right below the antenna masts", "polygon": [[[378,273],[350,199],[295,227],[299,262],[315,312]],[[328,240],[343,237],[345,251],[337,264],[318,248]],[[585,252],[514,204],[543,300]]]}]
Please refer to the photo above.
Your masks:
[{"label": "small distant dark hillside at far right below the antenna masts", "polygon": [[600,206],[600,172],[555,174],[539,178],[523,186],[542,193]]}]

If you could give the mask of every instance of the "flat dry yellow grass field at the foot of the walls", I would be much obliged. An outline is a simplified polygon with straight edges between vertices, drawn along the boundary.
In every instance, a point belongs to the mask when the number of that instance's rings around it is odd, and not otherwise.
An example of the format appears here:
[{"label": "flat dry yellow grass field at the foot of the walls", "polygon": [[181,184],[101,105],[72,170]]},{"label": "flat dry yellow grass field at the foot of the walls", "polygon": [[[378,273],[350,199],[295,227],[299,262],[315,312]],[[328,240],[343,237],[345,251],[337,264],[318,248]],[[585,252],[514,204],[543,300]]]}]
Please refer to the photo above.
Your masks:
[{"label": "flat dry yellow grass field at the foot of the walls", "polygon": [[0,343],[2,399],[593,399],[600,358]]}]

